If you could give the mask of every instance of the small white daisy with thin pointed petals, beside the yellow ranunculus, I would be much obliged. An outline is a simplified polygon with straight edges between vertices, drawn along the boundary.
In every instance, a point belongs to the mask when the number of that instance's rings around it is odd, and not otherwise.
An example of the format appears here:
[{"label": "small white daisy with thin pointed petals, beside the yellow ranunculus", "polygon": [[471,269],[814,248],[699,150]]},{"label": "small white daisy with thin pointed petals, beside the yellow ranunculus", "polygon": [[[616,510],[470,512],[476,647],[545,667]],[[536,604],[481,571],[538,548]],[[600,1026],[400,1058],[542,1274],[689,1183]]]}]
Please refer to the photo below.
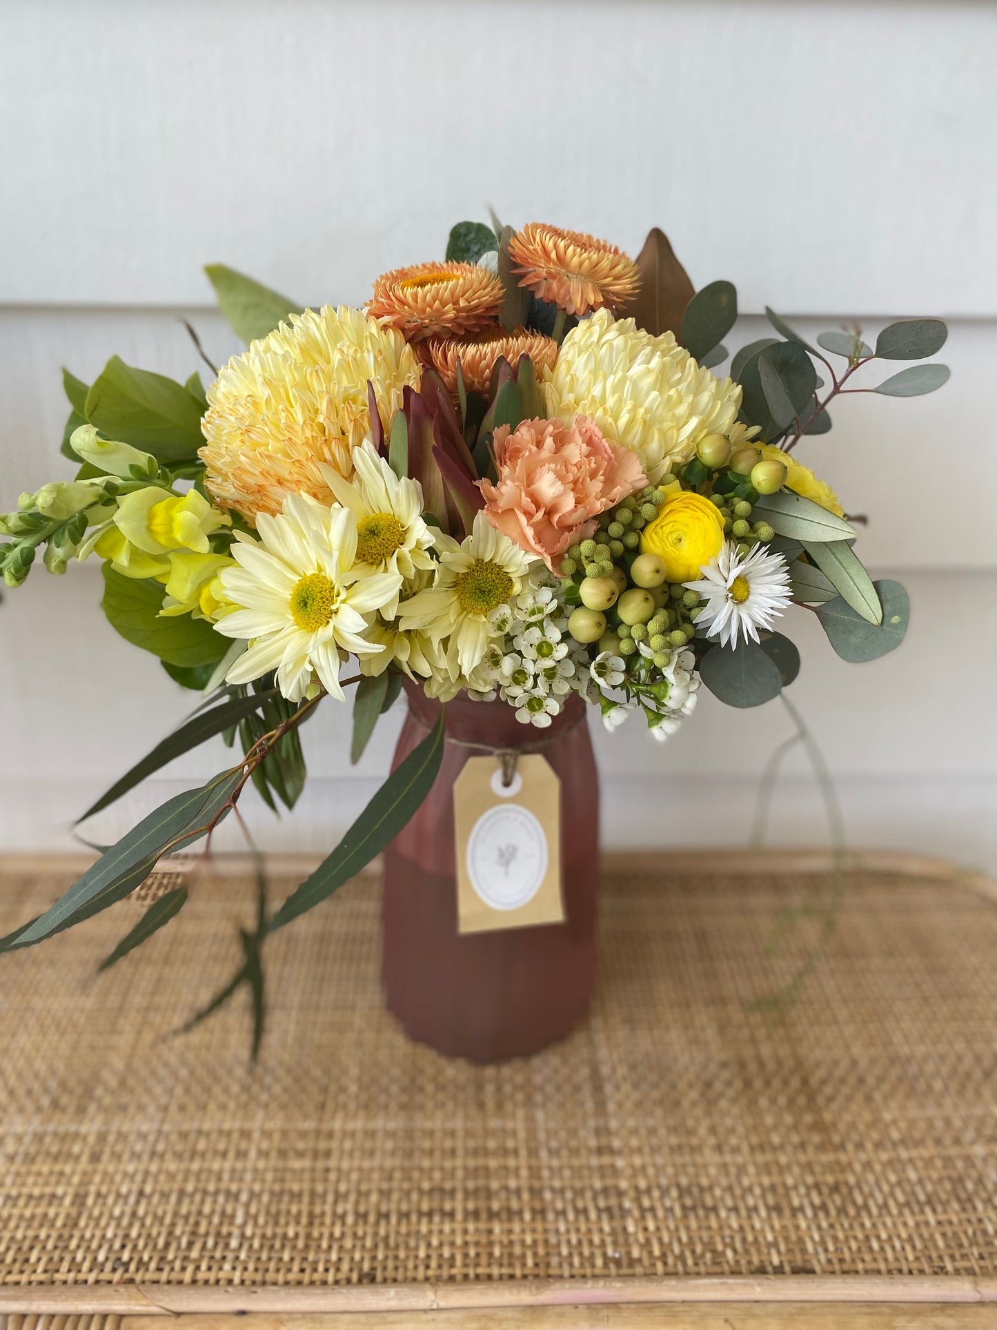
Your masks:
[{"label": "small white daisy with thin pointed petals, beside the yellow ranunculus", "polygon": [[756,545],[742,555],[734,541],[724,541],[719,555],[701,572],[699,581],[685,583],[706,600],[695,626],[707,637],[719,637],[720,646],[738,645],[738,632],[744,641],[758,641],[759,628],[771,628],[792,600],[790,569],[782,555]]}]

